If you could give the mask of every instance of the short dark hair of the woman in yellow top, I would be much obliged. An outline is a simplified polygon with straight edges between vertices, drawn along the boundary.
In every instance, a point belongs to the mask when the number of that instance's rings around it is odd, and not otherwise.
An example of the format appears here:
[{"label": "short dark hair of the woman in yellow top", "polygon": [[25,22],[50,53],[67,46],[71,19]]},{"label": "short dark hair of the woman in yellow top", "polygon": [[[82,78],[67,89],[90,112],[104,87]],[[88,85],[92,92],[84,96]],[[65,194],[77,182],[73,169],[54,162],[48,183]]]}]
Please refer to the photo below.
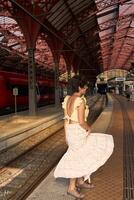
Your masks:
[{"label": "short dark hair of the woman in yellow top", "polygon": [[88,82],[85,77],[75,75],[68,81],[67,94],[72,95],[74,92],[79,91],[79,87],[84,88],[87,85]]}]

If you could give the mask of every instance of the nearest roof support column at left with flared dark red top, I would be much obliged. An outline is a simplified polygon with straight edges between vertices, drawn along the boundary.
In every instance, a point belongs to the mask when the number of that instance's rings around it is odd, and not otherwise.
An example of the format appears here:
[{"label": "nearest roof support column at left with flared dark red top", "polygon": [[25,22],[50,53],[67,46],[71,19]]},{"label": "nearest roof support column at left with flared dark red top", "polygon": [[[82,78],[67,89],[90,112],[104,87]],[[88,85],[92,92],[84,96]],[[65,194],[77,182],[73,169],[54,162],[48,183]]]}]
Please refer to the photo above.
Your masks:
[{"label": "nearest roof support column at left with flared dark red top", "polygon": [[11,3],[13,5],[12,14],[16,17],[21,27],[28,50],[29,115],[36,115],[37,98],[34,52],[41,25],[36,22],[35,18],[43,22],[45,16],[36,1],[32,3],[32,1],[11,0]]}]

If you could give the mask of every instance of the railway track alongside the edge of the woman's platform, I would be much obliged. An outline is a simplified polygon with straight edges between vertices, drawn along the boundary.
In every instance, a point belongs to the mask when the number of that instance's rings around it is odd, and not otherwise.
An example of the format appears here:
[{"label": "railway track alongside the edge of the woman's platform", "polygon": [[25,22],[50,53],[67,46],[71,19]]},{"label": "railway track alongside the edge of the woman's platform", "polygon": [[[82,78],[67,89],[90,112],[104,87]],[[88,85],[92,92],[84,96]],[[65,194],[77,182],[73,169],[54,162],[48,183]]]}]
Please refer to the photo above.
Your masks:
[{"label": "railway track alongside the edge of the woman's platform", "polygon": [[[93,118],[93,115],[89,117],[90,123],[93,123],[96,116],[100,114],[104,102],[105,98],[100,97],[92,104],[90,112],[93,112],[95,117]],[[64,130],[61,129],[19,157],[6,163],[0,169],[0,200],[26,199],[56,165],[66,149]]]}]

